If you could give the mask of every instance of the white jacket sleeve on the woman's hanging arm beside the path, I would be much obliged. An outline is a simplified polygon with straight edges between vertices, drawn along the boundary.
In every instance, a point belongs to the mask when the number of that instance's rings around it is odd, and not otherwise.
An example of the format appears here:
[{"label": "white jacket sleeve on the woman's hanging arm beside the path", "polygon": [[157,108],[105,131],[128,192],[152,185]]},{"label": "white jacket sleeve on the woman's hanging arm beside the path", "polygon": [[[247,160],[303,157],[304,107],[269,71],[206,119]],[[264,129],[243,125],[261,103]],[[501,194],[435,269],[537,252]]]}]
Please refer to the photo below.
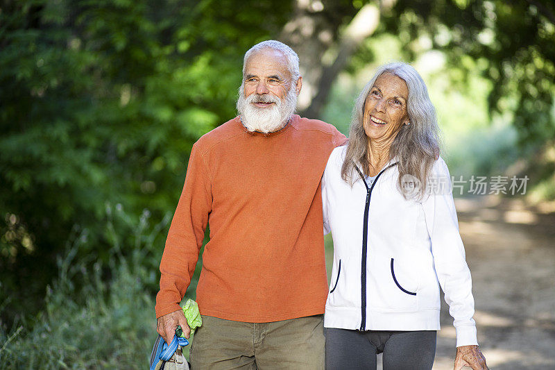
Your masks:
[{"label": "white jacket sleeve on the woman's hanging arm beside the path", "polygon": [[443,159],[436,160],[428,184],[428,198],[422,202],[432,254],[445,302],[456,329],[456,346],[478,344],[472,297],[472,279],[466,264],[459,222],[456,217],[449,170]]}]

